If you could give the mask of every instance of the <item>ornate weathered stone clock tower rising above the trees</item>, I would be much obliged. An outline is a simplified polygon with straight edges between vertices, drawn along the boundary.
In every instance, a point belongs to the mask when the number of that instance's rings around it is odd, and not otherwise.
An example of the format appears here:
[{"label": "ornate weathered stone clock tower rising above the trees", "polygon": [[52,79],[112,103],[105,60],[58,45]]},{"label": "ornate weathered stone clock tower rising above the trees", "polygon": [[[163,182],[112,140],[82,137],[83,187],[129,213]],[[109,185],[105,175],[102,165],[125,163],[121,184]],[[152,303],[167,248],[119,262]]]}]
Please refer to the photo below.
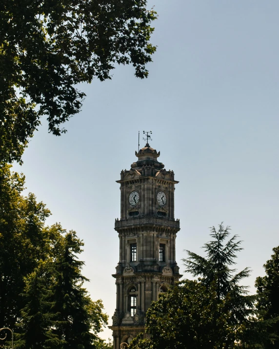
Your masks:
[{"label": "ornate weathered stone clock tower rising above the trees", "polygon": [[149,146],[136,152],[138,161],[121,171],[119,234],[120,261],[113,277],[117,299],[113,315],[114,349],[130,343],[144,331],[145,313],[161,292],[179,280],[176,263],[173,171],[157,160],[160,152]]}]

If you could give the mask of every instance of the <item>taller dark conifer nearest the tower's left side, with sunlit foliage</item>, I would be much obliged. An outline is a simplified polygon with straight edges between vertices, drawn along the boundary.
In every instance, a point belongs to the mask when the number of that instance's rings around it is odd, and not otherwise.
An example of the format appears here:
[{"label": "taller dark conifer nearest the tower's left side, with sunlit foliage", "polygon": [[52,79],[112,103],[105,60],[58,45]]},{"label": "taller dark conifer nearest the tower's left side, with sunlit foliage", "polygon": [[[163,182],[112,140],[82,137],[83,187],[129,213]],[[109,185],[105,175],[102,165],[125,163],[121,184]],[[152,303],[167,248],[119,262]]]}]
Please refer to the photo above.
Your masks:
[{"label": "taller dark conifer nearest the tower's left side, with sunlit foliage", "polygon": [[102,313],[101,301],[93,302],[85,288],[87,281],[81,274],[84,262],[79,261],[76,254],[82,251],[83,243],[71,231],[65,235],[60,255],[54,263],[55,284],[53,287],[54,306],[58,313],[55,333],[64,341],[63,349],[94,348],[95,332],[107,323],[107,315]]}]

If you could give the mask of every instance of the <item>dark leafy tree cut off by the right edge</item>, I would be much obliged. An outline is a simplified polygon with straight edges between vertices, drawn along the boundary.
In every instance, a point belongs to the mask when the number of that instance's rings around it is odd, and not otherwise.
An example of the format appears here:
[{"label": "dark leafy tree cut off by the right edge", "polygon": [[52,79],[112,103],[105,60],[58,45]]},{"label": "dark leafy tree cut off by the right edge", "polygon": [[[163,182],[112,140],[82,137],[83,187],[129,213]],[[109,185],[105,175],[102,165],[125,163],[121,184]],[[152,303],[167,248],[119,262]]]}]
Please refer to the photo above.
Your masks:
[{"label": "dark leafy tree cut off by the right edge", "polygon": [[266,275],[256,279],[259,316],[267,322],[266,349],[279,347],[279,246],[264,264]]}]

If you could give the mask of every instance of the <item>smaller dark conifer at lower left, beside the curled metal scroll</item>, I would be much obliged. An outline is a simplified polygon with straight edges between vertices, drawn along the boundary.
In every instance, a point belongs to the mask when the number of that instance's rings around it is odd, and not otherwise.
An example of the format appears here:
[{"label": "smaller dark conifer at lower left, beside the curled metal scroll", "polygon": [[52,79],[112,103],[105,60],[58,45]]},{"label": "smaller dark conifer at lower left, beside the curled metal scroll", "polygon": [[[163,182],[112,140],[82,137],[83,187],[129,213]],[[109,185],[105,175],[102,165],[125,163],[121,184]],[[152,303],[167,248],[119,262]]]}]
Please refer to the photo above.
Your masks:
[{"label": "smaller dark conifer at lower left, beside the curled metal scroll", "polygon": [[60,348],[62,341],[53,333],[55,314],[51,312],[50,290],[43,276],[43,264],[28,277],[22,294],[26,306],[21,310],[20,334],[15,345],[22,349]]}]

